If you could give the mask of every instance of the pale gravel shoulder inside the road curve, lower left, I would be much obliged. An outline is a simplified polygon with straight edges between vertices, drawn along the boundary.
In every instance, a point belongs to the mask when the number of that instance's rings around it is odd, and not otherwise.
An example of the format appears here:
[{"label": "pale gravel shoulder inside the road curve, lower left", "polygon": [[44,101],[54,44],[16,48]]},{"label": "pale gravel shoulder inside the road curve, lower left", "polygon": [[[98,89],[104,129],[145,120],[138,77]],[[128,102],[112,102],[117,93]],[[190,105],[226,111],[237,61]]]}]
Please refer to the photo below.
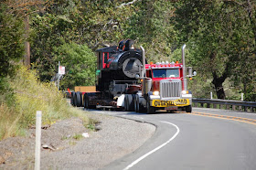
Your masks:
[{"label": "pale gravel shoulder inside the road curve, lower left", "polygon": [[[100,131],[86,129],[79,118],[42,129],[41,169],[100,169],[130,154],[155,133],[155,126],[103,114],[88,114],[101,122]],[[35,129],[26,137],[0,142],[0,169],[34,169]],[[82,133],[89,133],[83,137]]]}]

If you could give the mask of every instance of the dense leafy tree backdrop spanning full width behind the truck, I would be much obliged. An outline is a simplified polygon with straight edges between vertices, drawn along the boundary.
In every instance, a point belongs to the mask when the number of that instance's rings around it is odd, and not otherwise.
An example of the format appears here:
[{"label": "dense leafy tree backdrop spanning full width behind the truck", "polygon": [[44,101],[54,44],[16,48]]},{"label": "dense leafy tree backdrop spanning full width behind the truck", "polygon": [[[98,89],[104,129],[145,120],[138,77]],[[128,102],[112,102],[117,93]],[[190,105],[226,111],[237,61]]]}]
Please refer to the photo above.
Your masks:
[{"label": "dense leafy tree backdrop spanning full width behind the truck", "polygon": [[[27,12],[32,68],[37,69],[40,80],[49,81],[61,61],[68,69],[61,82],[63,89],[93,84],[95,70],[88,64],[95,61],[91,50],[132,38],[144,46],[149,61],[180,60],[180,47],[187,44],[187,65],[198,73],[189,83],[195,96],[208,97],[215,90],[220,99],[238,99],[240,94],[234,93],[243,92],[246,100],[255,101],[254,1],[38,2],[19,5],[26,7],[19,7],[14,13],[5,3],[1,5],[0,53],[5,56],[1,62],[7,63],[1,73],[12,74],[17,58],[23,56],[23,19],[14,14],[24,16]],[[2,25],[4,22],[7,25]]]}]

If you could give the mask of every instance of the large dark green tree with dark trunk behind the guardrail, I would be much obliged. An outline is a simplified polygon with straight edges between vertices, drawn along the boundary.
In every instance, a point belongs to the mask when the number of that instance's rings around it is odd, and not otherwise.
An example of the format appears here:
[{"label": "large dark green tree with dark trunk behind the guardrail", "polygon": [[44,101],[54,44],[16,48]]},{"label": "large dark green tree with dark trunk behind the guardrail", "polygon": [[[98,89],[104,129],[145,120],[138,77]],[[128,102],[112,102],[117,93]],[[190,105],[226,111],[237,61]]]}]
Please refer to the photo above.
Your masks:
[{"label": "large dark green tree with dark trunk behind the guardrail", "polygon": [[225,99],[223,82],[236,76],[241,65],[250,65],[244,58],[254,42],[244,9],[226,1],[182,1],[175,19],[180,40],[192,49],[191,63],[210,73],[218,98]]}]

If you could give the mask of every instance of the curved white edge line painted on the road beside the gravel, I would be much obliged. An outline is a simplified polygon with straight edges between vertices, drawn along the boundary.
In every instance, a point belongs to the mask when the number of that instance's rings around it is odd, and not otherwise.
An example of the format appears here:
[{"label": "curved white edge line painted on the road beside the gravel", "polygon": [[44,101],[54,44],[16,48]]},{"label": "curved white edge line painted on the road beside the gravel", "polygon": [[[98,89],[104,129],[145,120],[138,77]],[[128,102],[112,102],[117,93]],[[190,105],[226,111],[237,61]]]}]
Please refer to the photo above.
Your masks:
[{"label": "curved white edge line painted on the road beside the gravel", "polygon": [[[165,121],[160,121],[160,122],[165,122]],[[173,140],[176,138],[177,134],[179,133],[179,128],[177,127],[177,125],[174,124],[174,123],[172,123],[172,122],[165,122],[165,123],[171,124],[171,125],[173,125],[173,126],[176,127],[176,133],[175,133],[175,135],[173,135],[173,137],[171,137],[167,142],[165,142],[165,143],[161,144],[160,146],[156,147],[154,150],[152,150],[152,151],[148,152],[147,154],[144,154],[143,156],[139,157],[139,158],[138,158],[137,160],[135,160],[131,165],[126,166],[123,170],[128,170],[128,169],[130,169],[131,167],[133,167],[133,165],[138,164],[138,163],[139,163],[140,161],[142,161],[144,158],[146,158],[146,157],[149,156],[150,154],[155,153],[155,151],[161,149],[161,148],[164,147],[167,143],[170,143],[171,141],[173,141]]]}]

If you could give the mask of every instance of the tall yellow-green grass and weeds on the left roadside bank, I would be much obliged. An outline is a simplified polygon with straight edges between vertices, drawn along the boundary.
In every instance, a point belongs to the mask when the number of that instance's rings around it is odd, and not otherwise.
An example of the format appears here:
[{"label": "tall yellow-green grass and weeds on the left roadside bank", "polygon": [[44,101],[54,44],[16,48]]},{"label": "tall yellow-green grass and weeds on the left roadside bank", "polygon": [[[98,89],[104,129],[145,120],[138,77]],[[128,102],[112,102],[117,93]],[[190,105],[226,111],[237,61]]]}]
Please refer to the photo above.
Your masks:
[{"label": "tall yellow-green grass and weeds on the left roadside bank", "polygon": [[25,135],[27,128],[35,125],[36,112],[42,111],[42,124],[51,125],[69,117],[79,117],[84,125],[90,124],[85,112],[69,107],[63,94],[53,83],[40,82],[37,73],[20,67],[15,79],[9,80],[10,88],[5,96],[12,98],[0,103],[0,141],[16,135]]}]

